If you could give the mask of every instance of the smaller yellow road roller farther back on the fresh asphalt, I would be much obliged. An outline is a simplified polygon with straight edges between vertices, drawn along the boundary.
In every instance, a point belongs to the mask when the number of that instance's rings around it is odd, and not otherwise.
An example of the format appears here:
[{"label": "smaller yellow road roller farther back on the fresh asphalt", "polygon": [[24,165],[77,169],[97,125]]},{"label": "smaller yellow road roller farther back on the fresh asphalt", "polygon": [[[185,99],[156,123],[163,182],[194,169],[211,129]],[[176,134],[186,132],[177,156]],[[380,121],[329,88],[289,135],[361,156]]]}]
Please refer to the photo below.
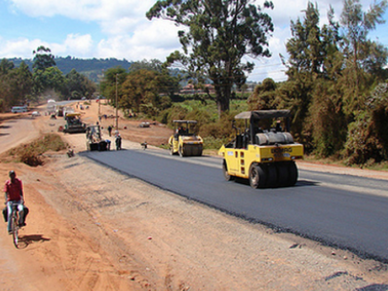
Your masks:
[{"label": "smaller yellow road roller farther back on the fresh asphalt", "polygon": [[202,156],[203,140],[197,134],[197,121],[173,120],[175,134],[169,140],[171,154],[181,157]]}]

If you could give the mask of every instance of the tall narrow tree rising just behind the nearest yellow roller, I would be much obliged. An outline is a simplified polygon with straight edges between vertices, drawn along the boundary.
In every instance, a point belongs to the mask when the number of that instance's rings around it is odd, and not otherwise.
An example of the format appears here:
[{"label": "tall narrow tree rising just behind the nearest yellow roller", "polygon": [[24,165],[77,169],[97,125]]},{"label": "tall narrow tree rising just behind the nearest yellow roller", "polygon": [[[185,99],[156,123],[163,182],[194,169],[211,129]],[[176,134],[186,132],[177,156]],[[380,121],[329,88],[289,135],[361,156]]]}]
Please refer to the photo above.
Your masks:
[{"label": "tall narrow tree rising just behind the nearest yellow roller", "polygon": [[[328,24],[319,26],[318,6],[308,2],[303,19],[291,21],[292,38],[287,42],[290,58],[289,80],[278,90],[281,107],[293,111],[295,137],[307,152],[333,154],[346,135],[341,99],[336,84],[341,77],[342,54],[339,51],[339,24],[330,8]],[[332,129],[332,125],[341,125]],[[344,125],[344,126],[343,126]]]}]

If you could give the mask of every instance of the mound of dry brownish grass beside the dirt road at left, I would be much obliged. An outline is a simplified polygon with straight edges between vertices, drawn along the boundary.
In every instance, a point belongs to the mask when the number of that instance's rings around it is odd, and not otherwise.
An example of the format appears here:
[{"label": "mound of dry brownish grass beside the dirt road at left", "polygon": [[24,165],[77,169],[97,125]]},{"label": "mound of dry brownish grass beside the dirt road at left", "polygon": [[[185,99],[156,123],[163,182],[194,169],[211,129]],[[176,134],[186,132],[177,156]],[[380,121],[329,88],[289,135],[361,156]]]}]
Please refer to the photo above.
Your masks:
[{"label": "mound of dry brownish grass beside the dirt road at left", "polygon": [[29,144],[20,145],[9,150],[6,155],[12,162],[23,162],[29,166],[36,167],[44,163],[42,155],[45,152],[60,151],[67,147],[67,143],[58,134],[49,133]]}]

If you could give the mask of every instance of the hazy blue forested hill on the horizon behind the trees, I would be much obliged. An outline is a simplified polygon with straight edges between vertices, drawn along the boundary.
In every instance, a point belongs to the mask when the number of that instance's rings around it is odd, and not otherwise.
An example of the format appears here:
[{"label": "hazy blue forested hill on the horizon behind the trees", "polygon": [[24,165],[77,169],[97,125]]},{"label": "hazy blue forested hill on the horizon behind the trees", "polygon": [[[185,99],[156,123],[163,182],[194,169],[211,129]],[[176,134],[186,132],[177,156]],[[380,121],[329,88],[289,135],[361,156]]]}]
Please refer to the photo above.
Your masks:
[{"label": "hazy blue forested hill on the horizon behind the trees", "polygon": [[[13,58],[8,59],[13,62],[15,66],[19,66],[22,61],[24,61],[32,70],[32,59],[21,59],[21,58]],[[128,69],[131,62],[127,60],[117,60],[114,58],[110,59],[77,59],[72,58],[70,56],[63,58],[57,57],[54,59],[57,67],[66,75],[73,68],[76,69],[80,74],[88,77],[90,80],[99,82],[103,76],[103,71],[113,68],[116,66],[121,66],[124,69]]]}]

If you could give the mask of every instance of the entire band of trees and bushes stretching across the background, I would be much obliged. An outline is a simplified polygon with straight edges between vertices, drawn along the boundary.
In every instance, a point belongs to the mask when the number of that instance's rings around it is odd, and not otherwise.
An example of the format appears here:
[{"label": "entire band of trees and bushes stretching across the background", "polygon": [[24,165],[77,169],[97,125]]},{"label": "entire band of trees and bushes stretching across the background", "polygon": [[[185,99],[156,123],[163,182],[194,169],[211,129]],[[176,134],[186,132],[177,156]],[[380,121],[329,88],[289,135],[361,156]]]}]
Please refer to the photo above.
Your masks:
[{"label": "entire band of trees and bushes stretching across the background", "polygon": [[[307,159],[358,167],[387,168],[388,49],[369,35],[385,22],[388,2],[343,0],[339,15],[330,7],[327,21],[309,2],[304,16],[290,24],[292,37],[282,56],[287,81],[265,79],[253,92],[244,90],[254,64],[245,56],[271,57],[268,39],[275,9],[250,1],[159,0],[146,16],[175,22],[182,30],[181,52],[165,62],[138,61],[104,72],[99,95],[128,117],[157,120],[195,119],[206,148],[218,148],[233,135],[231,121],[245,110],[289,109],[291,133],[305,146]],[[326,23],[326,24],[321,24]],[[2,109],[38,99],[52,90],[62,99],[91,97],[95,87],[75,71],[63,76],[50,50],[34,52],[33,71],[0,63]],[[182,94],[191,84],[195,93]],[[212,86],[213,90],[209,89]]]}]

